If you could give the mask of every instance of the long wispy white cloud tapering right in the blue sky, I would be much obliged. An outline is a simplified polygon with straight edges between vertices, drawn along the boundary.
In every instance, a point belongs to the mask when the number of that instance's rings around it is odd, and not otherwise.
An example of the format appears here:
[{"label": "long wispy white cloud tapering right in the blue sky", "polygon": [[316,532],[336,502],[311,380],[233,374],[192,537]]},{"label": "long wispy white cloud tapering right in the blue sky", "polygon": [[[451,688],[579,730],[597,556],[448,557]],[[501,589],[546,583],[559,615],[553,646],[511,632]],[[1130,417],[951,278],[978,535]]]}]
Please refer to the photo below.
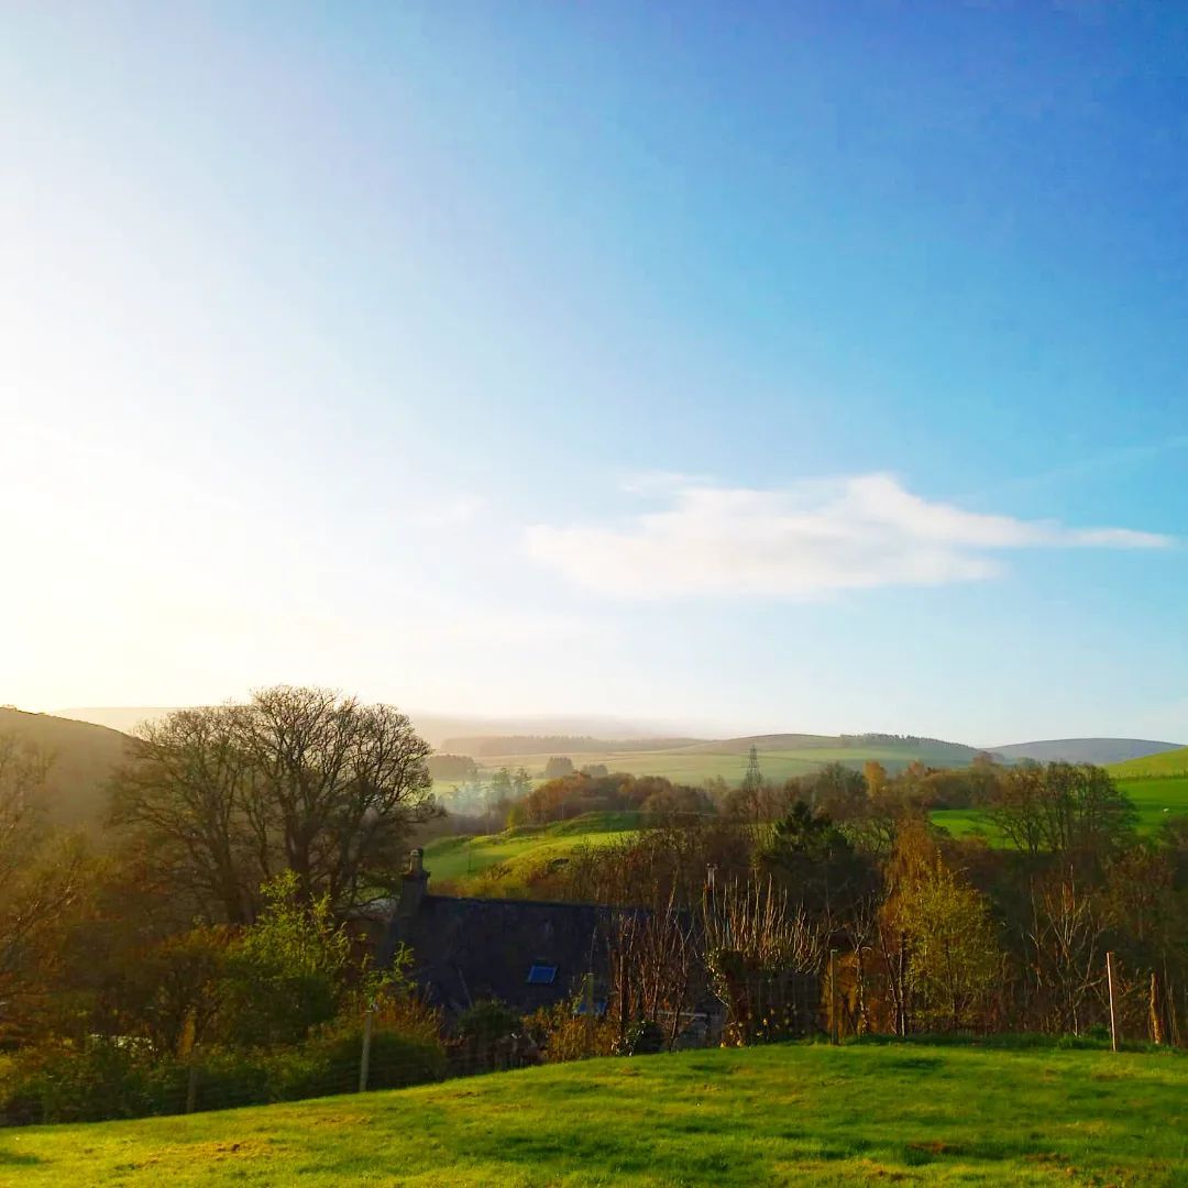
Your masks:
[{"label": "long wispy white cloud tapering right in the blue sky", "polygon": [[664,511],[618,526],[537,525],[527,554],[573,581],[627,598],[816,598],[877,586],[940,586],[1001,571],[996,550],[1158,549],[1117,527],[1066,527],[963,511],[914,495],[892,475],[808,481],[777,491],[691,484]]}]

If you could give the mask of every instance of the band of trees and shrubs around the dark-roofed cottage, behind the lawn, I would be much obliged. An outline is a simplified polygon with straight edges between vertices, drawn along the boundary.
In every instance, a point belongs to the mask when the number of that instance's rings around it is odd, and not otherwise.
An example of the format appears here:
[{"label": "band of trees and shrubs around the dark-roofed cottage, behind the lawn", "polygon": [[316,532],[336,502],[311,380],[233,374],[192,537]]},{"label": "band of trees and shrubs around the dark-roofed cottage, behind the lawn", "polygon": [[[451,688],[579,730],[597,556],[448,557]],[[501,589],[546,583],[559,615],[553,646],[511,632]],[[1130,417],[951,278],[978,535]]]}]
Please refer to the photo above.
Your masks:
[{"label": "band of trees and shrubs around the dark-roofed cottage, behind the lawn", "polygon": [[[391,707],[261,690],[147,727],[95,845],[37,811],[48,757],[0,740],[0,1045],[25,1094],[11,1100],[44,1104],[103,1069],[175,1085],[196,1047],[246,1061],[263,1094],[308,1087],[316,1078],[296,1069],[355,1042],[364,1000],[388,1003],[393,1043],[437,1051],[443,1029],[453,1042],[411,985],[383,981],[365,924],[441,822],[429,759]],[[606,1016],[533,1024],[554,1054],[579,1035],[586,1051],[592,1037],[623,1051],[649,1035],[675,1043],[707,993],[733,1042],[821,1020],[840,1034],[1086,1036],[1108,1018],[1107,952],[1125,1032],[1183,1041],[1188,821],[1140,835],[1099,767],[984,756],[776,783],[754,756],[739,786],[595,767],[533,788],[505,772],[497,803],[524,822],[638,813],[630,839],[554,857],[516,886],[498,868],[475,881],[625,909],[601,939]],[[998,843],[937,829],[939,805],[980,808]],[[440,1072],[432,1051],[423,1067]]]}]

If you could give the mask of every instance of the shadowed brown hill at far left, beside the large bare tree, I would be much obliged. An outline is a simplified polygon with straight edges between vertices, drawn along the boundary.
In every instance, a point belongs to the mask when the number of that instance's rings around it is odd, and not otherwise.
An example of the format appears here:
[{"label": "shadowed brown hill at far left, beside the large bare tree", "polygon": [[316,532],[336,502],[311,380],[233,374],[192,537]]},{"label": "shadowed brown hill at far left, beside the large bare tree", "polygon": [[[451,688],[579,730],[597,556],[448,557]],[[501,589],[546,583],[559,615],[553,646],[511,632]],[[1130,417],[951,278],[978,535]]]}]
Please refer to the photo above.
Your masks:
[{"label": "shadowed brown hill at far left, beside the large bare tree", "polygon": [[128,757],[119,731],[51,714],[0,708],[0,735],[32,742],[53,757],[45,811],[57,824],[96,826],[107,808],[108,777]]}]

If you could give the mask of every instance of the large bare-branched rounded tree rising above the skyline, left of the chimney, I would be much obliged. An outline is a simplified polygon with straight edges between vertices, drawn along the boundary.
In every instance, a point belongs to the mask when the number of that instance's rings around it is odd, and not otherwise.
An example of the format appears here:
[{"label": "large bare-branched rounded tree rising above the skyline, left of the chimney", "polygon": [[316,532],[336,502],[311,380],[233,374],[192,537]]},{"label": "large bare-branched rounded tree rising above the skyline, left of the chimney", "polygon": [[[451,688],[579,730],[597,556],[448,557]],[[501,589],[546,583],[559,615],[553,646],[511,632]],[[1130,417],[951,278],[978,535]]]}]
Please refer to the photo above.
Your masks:
[{"label": "large bare-branched rounded tree rising above the skyline, left of the chimney", "polygon": [[210,918],[244,923],[284,871],[343,910],[392,889],[412,826],[438,811],[429,745],[390,706],[282,685],[145,727],[113,817]]}]

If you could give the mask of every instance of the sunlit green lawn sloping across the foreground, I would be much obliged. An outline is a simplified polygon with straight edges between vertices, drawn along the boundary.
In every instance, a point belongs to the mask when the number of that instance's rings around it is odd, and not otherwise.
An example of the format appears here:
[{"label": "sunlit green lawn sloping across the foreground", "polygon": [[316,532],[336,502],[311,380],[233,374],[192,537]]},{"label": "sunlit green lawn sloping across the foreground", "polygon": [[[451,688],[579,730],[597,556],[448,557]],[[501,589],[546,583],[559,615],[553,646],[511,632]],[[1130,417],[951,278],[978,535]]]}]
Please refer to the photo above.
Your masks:
[{"label": "sunlit green lawn sloping across the foreground", "polygon": [[1188,1060],[785,1045],[0,1132],[49,1184],[1188,1183]]}]

